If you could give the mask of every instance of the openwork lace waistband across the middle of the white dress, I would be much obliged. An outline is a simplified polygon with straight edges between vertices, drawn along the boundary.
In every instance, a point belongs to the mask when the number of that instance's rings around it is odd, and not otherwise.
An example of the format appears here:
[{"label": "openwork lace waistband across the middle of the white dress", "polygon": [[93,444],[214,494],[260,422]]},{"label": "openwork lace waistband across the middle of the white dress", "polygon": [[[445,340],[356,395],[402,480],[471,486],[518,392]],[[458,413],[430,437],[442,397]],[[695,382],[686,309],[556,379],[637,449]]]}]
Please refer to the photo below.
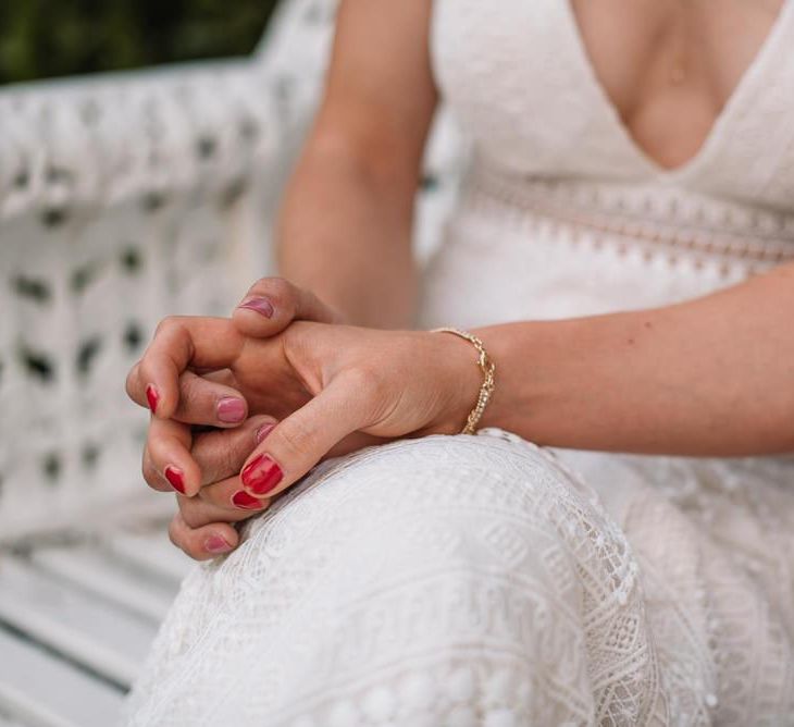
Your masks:
[{"label": "openwork lace waistband across the middle of the white dress", "polygon": [[687,258],[696,268],[718,261],[746,274],[794,260],[794,213],[758,210],[678,188],[605,185],[587,181],[522,178],[479,164],[469,174],[466,205],[504,221],[534,215],[553,225],[585,231],[596,248],[613,246],[621,256],[642,251],[646,261],[670,264]]}]

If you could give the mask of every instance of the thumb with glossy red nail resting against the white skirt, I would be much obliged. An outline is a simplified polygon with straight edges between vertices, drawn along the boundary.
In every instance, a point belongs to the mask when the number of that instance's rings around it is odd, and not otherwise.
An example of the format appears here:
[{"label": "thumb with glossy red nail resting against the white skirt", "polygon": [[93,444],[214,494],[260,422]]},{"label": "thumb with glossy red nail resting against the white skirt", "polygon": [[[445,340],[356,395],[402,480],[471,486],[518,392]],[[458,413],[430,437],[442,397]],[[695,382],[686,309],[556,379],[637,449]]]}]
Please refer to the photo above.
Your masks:
[{"label": "thumb with glossy red nail resting against the white skirt", "polygon": [[247,459],[240,479],[251,495],[272,496],[306,475],[340,440],[365,427],[364,380],[335,379],[288,416]]}]

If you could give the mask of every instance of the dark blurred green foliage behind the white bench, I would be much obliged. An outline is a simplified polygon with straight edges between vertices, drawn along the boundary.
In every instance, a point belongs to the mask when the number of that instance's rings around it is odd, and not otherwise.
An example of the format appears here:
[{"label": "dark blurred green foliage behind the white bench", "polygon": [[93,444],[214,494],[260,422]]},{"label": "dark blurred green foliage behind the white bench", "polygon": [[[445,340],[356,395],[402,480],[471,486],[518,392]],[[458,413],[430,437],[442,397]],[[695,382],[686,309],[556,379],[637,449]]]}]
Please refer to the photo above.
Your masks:
[{"label": "dark blurred green foliage behind the white bench", "polygon": [[0,83],[250,53],[276,0],[0,0]]}]

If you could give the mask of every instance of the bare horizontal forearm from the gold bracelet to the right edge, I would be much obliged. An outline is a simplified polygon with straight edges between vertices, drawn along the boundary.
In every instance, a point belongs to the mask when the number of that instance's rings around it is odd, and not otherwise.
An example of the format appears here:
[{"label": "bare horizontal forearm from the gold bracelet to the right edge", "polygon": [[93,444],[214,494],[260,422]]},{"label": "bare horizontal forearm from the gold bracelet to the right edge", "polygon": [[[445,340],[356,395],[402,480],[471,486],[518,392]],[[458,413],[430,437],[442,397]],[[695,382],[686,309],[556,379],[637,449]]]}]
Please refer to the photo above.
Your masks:
[{"label": "bare horizontal forearm from the gold bracelet to the right edge", "polygon": [[483,426],[541,444],[740,456],[794,452],[794,267],[681,305],[481,329]]}]

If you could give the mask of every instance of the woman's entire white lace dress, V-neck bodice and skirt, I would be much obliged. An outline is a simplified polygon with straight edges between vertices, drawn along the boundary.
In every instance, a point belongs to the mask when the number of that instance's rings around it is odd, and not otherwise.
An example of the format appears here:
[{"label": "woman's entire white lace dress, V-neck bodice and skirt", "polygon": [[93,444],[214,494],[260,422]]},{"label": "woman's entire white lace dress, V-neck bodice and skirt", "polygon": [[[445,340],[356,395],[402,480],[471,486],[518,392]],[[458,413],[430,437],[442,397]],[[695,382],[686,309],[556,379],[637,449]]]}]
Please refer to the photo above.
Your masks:
[{"label": "woman's entire white lace dress, V-neck bodice and skirt", "polygon": [[[662,305],[794,259],[792,48],[789,1],[704,148],[666,172],[563,0],[436,0],[435,72],[473,162],[423,323]],[[497,430],[367,449],[188,577],[127,724],[794,725],[793,554],[792,458]]]}]

